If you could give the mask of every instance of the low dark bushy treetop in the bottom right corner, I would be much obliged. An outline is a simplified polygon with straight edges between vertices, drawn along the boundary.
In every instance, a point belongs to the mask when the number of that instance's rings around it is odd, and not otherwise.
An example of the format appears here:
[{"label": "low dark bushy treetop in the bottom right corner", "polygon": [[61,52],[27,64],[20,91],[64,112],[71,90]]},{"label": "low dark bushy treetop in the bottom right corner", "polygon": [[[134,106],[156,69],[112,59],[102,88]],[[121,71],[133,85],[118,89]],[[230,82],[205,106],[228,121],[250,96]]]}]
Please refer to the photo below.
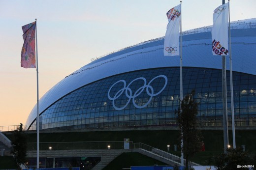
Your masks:
[{"label": "low dark bushy treetop in the bottom right corner", "polygon": [[[251,157],[243,148],[228,148],[226,153],[215,156],[215,168],[217,170],[237,170],[237,166],[255,166],[255,157]],[[242,170],[249,170],[249,168],[239,167]],[[251,167],[252,168],[252,167]],[[255,167],[253,167],[255,169]]]}]

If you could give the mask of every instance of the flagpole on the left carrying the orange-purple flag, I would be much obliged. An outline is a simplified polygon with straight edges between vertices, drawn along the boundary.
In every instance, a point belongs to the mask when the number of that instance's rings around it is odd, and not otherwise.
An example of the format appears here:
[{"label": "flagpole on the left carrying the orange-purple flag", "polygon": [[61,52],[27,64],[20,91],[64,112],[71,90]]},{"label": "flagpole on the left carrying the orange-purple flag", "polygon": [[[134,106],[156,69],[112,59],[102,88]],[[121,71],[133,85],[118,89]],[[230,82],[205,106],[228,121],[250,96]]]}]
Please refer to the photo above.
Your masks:
[{"label": "flagpole on the left carrying the orange-purple flag", "polygon": [[37,28],[36,28],[36,19],[35,19],[35,37],[36,37],[36,109],[37,109],[37,117],[36,117],[36,169],[39,169],[39,93],[38,93],[38,55],[37,55]]}]

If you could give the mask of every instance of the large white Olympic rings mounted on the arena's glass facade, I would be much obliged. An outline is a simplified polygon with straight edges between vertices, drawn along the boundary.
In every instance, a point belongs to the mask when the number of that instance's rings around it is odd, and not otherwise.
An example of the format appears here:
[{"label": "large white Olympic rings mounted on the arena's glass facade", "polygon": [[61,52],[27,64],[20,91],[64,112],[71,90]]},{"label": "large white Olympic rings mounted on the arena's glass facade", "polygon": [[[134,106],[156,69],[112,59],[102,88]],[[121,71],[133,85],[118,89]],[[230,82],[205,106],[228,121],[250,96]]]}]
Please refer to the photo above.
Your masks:
[{"label": "large white Olympic rings mounted on the arena's glass facade", "polygon": [[[154,80],[156,80],[156,79],[158,79],[158,78],[163,78],[164,81],[165,81],[165,83],[164,83],[163,87],[160,89],[159,92],[154,93],[154,88],[153,88],[150,84],[151,84]],[[133,82],[138,81],[138,80],[142,80],[142,81],[144,82],[144,84],[143,84],[141,87],[139,87],[139,88],[133,93],[132,90],[131,90],[131,88],[130,88],[130,85],[131,85]],[[117,85],[117,84],[119,84],[119,83],[122,83],[122,84],[123,84],[123,85],[122,85],[123,88],[119,89],[119,90],[116,92],[116,94],[114,95],[114,97],[111,97],[111,96],[110,96],[110,91],[111,91],[111,89],[113,88],[114,85]],[[128,106],[130,100],[132,100],[132,103],[133,103],[134,107],[136,107],[136,108],[138,108],[138,109],[145,108],[145,107],[151,102],[151,100],[152,100],[152,98],[153,98],[154,96],[159,95],[159,94],[164,90],[164,88],[165,88],[166,85],[167,85],[167,77],[164,76],[164,75],[156,76],[156,77],[154,77],[148,84],[147,84],[147,80],[146,80],[144,77],[139,77],[139,78],[136,78],[136,79],[134,79],[133,81],[131,81],[127,86],[126,86],[126,84],[127,84],[127,83],[126,83],[125,80],[119,80],[119,81],[117,81],[116,83],[114,83],[114,84],[109,88],[109,90],[108,90],[107,96],[108,96],[108,98],[109,98],[110,100],[112,100],[112,105],[113,105],[113,107],[114,107],[116,110],[118,110],[118,111],[125,109],[125,108]],[[149,100],[148,100],[148,102],[147,102],[146,104],[144,104],[144,105],[142,105],[142,106],[139,106],[139,105],[137,105],[137,104],[135,103],[135,98],[138,97],[138,96],[145,90],[145,88],[146,88],[146,92],[147,92],[147,94],[150,96],[150,98],[149,98]],[[126,97],[128,98],[128,101],[127,101],[127,103],[126,103],[123,107],[118,108],[118,107],[116,106],[116,104],[115,104],[115,100],[116,100],[117,98],[119,98],[123,93],[125,93]]]}]

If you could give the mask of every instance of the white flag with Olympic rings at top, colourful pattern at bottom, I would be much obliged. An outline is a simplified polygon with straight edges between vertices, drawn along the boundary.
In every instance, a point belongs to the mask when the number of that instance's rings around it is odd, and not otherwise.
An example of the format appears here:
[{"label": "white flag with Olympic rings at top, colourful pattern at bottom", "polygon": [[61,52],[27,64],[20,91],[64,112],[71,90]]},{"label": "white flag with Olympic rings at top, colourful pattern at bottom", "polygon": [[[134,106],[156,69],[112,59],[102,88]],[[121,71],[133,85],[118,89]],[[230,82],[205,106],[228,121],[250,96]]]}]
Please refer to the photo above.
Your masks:
[{"label": "white flag with Olympic rings at top, colourful pattern at bottom", "polygon": [[228,2],[213,11],[212,52],[214,56],[228,54]]}]

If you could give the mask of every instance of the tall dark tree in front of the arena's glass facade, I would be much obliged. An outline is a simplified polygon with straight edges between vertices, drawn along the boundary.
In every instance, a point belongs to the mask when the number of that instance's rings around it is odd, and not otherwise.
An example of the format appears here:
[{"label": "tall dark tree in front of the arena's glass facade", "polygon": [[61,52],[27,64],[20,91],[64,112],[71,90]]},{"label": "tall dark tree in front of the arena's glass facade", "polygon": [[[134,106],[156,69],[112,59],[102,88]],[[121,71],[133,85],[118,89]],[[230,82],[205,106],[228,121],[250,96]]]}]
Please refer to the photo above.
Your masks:
[{"label": "tall dark tree in front of the arena's glass facade", "polygon": [[180,127],[180,139],[183,140],[183,148],[181,147],[186,159],[186,170],[189,169],[189,160],[201,149],[202,135],[200,130],[196,129],[197,103],[194,99],[195,91],[187,94],[177,114],[177,123]]}]

